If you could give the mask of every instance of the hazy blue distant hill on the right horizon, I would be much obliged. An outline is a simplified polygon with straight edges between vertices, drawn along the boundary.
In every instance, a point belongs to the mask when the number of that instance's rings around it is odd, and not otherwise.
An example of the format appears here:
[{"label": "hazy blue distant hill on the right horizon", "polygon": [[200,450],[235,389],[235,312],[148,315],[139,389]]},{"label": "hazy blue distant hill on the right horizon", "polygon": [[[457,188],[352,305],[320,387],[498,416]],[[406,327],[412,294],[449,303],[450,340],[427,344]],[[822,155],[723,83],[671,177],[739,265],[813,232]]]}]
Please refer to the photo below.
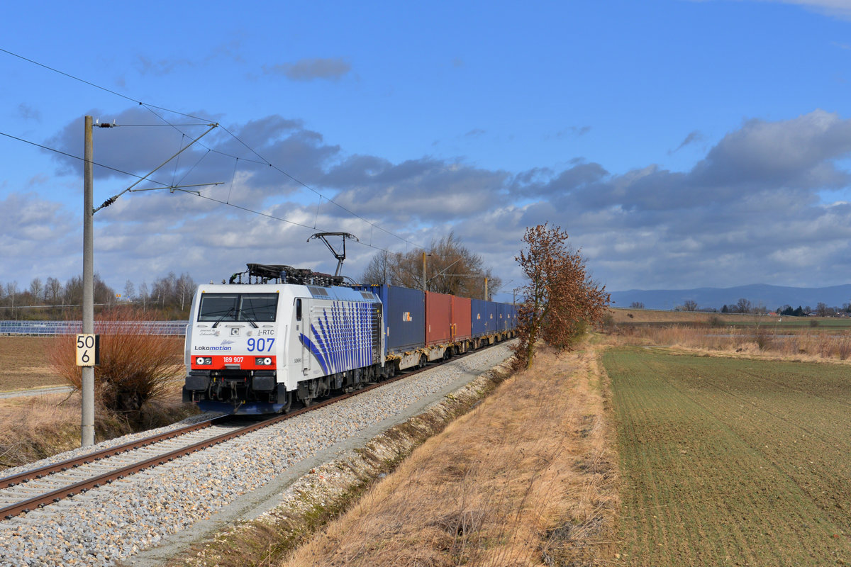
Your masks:
[{"label": "hazy blue distant hill on the right horizon", "polygon": [[611,292],[613,307],[629,307],[633,302],[644,303],[645,309],[674,309],[688,299],[697,302],[698,309],[723,305],[734,305],[745,298],[752,305],[762,305],[769,311],[785,304],[792,308],[826,303],[828,307],[842,307],[851,302],[851,285],[830,287],[786,287],[753,284],[738,287],[699,287],[697,289],[632,289],[626,292]]}]

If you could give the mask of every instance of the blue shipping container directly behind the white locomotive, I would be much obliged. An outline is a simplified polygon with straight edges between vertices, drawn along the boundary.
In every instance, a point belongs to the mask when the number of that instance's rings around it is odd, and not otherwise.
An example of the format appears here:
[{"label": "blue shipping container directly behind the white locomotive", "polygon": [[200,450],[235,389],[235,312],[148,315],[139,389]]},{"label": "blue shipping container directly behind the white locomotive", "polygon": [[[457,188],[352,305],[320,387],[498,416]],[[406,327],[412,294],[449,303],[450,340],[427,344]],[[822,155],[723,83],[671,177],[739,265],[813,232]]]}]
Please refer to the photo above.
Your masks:
[{"label": "blue shipping container directly behind the white locomotive", "polygon": [[426,294],[399,286],[357,286],[373,292],[384,306],[386,354],[419,349],[426,344]]}]

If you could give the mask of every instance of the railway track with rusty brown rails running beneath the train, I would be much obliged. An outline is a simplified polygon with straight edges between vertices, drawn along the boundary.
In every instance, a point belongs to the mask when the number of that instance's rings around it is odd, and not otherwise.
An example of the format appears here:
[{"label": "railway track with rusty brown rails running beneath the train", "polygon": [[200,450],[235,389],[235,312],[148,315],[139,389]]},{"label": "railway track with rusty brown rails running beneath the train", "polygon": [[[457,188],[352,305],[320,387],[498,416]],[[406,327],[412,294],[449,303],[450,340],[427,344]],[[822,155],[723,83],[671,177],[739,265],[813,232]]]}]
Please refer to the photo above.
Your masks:
[{"label": "railway track with rusty brown rails running beneath the train", "polygon": [[[454,359],[463,358],[473,352],[477,351],[460,354]],[[307,411],[317,410],[326,405],[346,400],[351,396],[363,394],[374,388],[380,388],[397,380],[430,370],[435,366],[439,365],[407,371],[351,393],[341,394],[314,403],[309,407],[303,407],[260,422],[237,426],[233,423],[235,420],[232,416],[214,417],[163,434],[152,435],[145,439],[138,439],[124,445],[113,446],[5,477],[0,479],[0,519],[11,519],[21,513],[28,513],[36,508],[49,506],[75,494],[99,488],[131,474],[163,465],[166,462],[172,462],[174,459],[196,451],[203,451],[213,445],[219,445],[230,439],[300,416]]]}]

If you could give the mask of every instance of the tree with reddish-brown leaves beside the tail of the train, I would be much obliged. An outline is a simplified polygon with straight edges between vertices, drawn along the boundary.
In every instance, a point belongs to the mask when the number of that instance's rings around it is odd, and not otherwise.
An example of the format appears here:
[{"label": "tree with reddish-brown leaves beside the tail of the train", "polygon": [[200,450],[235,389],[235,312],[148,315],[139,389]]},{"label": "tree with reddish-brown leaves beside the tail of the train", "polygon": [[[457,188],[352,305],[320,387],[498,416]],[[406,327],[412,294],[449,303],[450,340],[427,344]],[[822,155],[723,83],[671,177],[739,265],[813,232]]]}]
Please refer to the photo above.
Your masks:
[{"label": "tree with reddish-brown leaves beside the tail of the train", "polygon": [[532,365],[539,337],[557,349],[570,349],[589,324],[603,320],[609,303],[605,286],[591,281],[585,259],[568,247],[560,227],[526,229],[525,249],[517,256],[528,285],[517,309],[518,364]]}]

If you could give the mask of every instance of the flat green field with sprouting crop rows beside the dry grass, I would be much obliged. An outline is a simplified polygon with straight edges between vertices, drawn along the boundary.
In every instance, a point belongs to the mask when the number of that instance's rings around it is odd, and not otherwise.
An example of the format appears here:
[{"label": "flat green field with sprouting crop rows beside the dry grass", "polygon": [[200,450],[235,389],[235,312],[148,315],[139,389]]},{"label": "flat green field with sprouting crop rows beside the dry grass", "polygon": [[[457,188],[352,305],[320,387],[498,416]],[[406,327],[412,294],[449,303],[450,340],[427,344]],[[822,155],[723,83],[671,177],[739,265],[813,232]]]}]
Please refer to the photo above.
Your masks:
[{"label": "flat green field with sprouting crop rows beside the dry grass", "polygon": [[851,371],[612,349],[628,565],[851,562]]}]

